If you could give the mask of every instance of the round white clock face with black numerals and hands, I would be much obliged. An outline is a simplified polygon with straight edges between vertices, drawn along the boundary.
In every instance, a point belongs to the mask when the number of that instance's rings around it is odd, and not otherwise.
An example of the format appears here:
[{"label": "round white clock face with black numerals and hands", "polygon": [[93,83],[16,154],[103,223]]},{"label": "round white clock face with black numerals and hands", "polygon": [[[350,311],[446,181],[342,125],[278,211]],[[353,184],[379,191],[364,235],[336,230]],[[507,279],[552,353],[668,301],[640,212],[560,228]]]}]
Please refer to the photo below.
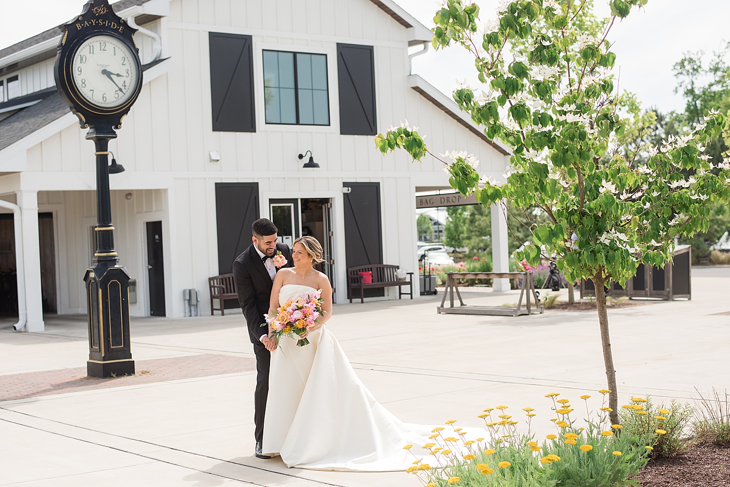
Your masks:
[{"label": "round white clock face with black numerals and hands", "polygon": [[80,45],[72,62],[81,96],[98,107],[114,108],[134,95],[139,72],[135,54],[120,39],[94,36]]}]

